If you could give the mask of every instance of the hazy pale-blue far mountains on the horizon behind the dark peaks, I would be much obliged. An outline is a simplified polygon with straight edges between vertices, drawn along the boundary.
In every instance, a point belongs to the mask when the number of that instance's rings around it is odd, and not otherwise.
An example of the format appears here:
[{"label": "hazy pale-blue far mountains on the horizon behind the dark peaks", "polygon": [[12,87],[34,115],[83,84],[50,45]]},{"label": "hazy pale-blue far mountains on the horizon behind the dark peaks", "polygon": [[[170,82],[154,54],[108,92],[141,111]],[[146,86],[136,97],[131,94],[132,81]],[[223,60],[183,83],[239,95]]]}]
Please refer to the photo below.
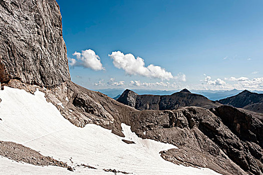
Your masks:
[{"label": "hazy pale-blue far mountains on the horizon behind the dark peaks", "polygon": [[[102,92],[106,95],[108,95],[109,97],[112,97],[114,99],[117,99],[116,97],[119,97],[120,94],[122,94],[122,92],[125,89],[123,88],[107,88],[107,89],[97,89],[95,91],[99,91]],[[175,89],[175,90],[152,90],[152,89],[131,89],[132,91],[134,91],[135,93],[138,93],[140,95],[143,94],[153,94],[153,95],[170,95],[174,92],[178,92],[180,91],[179,89]],[[241,92],[242,90],[237,90],[237,89],[232,89],[232,90],[190,90],[192,93],[196,93],[196,94],[201,94],[205,97],[207,97],[210,100],[219,100],[219,99],[223,99],[229,96],[234,96],[236,94],[238,94],[239,92]],[[263,93],[263,90],[253,90],[251,92],[256,92],[256,93]]]}]

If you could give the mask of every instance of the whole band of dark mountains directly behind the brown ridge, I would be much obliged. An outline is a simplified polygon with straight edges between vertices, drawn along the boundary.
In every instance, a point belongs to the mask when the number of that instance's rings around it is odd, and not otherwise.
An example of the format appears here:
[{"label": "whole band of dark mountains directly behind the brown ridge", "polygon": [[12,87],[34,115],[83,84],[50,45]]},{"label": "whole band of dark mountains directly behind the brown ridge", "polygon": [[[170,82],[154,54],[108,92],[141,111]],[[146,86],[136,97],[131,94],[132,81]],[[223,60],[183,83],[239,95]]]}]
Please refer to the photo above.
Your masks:
[{"label": "whole band of dark mountains directly behind the brown ridge", "polygon": [[[223,92],[205,93],[220,96],[230,95],[237,91],[238,90],[233,89]],[[255,93],[248,90],[243,90],[236,95],[213,101],[204,95],[191,93],[187,89],[182,89],[170,95],[140,95],[132,90],[126,89],[121,95],[117,95],[114,99],[138,110],[173,110],[181,106],[213,108],[224,104],[263,113],[263,93]]]}]

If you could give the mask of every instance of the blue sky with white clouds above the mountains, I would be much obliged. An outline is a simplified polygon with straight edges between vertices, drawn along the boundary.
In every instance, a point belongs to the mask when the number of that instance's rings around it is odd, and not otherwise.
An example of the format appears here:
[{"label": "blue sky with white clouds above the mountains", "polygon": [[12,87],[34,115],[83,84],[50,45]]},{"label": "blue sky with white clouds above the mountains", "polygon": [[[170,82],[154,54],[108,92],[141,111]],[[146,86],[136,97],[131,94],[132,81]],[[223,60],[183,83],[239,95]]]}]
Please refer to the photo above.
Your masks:
[{"label": "blue sky with white clouds above the mountains", "polygon": [[57,2],[87,88],[263,89],[262,0]]}]

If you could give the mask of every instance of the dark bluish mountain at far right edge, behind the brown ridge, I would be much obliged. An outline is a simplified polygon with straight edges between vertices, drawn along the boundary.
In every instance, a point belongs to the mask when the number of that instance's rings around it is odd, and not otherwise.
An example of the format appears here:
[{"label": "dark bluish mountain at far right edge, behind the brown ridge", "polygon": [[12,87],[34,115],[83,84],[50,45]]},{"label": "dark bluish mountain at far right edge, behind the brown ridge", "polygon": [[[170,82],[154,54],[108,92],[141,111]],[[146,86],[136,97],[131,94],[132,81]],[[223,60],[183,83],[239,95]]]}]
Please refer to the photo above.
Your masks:
[{"label": "dark bluish mountain at far right edge, behind the brown ridge", "polygon": [[248,90],[243,90],[237,95],[220,99],[218,102],[221,104],[263,113],[263,93],[254,93]]}]

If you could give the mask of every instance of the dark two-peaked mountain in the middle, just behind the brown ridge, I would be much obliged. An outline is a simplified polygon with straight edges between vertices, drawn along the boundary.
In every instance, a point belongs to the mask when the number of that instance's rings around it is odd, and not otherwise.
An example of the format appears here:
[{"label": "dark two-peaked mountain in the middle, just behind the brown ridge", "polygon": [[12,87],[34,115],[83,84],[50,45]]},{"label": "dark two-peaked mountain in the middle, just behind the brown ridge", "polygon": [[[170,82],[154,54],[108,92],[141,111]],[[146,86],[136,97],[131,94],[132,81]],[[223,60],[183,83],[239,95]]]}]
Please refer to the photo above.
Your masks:
[{"label": "dark two-peaked mountain in the middle, just behind the brown ridge", "polygon": [[138,95],[126,89],[117,101],[132,106],[138,110],[172,110],[180,106],[217,107],[220,103],[211,101],[203,95],[191,93],[187,89],[171,95]]}]

